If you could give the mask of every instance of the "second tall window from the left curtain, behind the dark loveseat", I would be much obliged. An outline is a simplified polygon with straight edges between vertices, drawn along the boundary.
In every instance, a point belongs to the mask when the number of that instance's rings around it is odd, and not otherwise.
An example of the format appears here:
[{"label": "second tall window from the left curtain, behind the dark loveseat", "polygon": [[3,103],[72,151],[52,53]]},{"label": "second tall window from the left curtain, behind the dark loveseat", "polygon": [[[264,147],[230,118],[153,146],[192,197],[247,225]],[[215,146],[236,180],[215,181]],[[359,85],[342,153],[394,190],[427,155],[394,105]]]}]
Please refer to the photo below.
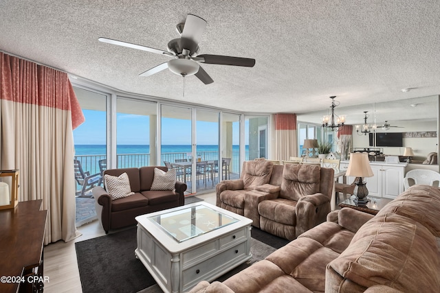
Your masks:
[{"label": "second tall window from the left curtain, behind the dark loveseat", "polygon": [[116,101],[116,167],[156,163],[157,104],[118,97]]}]

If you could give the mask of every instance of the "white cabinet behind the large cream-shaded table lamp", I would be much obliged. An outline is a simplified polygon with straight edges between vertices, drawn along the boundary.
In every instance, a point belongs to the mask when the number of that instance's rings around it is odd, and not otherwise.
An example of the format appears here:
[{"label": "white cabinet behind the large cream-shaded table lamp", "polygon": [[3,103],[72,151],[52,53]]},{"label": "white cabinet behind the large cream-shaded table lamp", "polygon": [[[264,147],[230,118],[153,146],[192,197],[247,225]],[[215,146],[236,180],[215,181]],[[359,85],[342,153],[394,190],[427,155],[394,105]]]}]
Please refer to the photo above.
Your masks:
[{"label": "white cabinet behind the large cream-shaded table lamp", "polygon": [[[370,163],[374,176],[365,178],[369,196],[379,198],[395,198],[404,192],[404,176],[407,163],[386,164],[384,162]],[[347,169],[349,162],[341,162],[340,168]],[[347,176],[347,183],[355,178]]]}]

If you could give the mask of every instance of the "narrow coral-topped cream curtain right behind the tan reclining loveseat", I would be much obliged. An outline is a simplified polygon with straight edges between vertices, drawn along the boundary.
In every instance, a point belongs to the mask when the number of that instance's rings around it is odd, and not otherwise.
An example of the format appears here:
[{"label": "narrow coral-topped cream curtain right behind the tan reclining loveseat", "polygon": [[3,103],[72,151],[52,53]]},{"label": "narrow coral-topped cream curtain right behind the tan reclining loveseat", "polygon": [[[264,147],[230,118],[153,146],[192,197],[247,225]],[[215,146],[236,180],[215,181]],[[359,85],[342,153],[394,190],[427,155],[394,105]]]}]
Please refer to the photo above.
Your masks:
[{"label": "narrow coral-topped cream curtain right behind the tan reclining loveseat", "polygon": [[297,156],[296,114],[277,113],[274,115],[275,128],[275,157],[272,159],[289,161],[291,156]]}]

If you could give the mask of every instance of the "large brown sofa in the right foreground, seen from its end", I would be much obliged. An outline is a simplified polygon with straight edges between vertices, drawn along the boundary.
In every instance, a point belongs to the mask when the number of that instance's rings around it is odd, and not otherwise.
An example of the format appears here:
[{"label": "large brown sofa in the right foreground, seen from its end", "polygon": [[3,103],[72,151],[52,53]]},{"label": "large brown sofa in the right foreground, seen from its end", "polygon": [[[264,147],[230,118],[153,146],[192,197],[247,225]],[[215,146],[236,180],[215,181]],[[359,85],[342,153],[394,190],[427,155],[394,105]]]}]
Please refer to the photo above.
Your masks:
[{"label": "large brown sofa in the right foreground, seen from its end", "polygon": [[414,185],[373,216],[333,211],[264,260],[200,292],[440,292],[440,189]]}]

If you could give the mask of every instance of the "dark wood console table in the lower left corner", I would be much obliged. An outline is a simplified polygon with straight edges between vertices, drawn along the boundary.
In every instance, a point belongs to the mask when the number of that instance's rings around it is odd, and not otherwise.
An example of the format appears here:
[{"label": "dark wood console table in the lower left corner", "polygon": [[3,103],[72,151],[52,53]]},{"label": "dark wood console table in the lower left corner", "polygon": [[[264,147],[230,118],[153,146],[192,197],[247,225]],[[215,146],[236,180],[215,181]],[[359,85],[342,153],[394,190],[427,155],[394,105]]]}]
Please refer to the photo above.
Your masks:
[{"label": "dark wood console table in the lower left corner", "polygon": [[43,200],[0,211],[0,292],[43,292]]}]

